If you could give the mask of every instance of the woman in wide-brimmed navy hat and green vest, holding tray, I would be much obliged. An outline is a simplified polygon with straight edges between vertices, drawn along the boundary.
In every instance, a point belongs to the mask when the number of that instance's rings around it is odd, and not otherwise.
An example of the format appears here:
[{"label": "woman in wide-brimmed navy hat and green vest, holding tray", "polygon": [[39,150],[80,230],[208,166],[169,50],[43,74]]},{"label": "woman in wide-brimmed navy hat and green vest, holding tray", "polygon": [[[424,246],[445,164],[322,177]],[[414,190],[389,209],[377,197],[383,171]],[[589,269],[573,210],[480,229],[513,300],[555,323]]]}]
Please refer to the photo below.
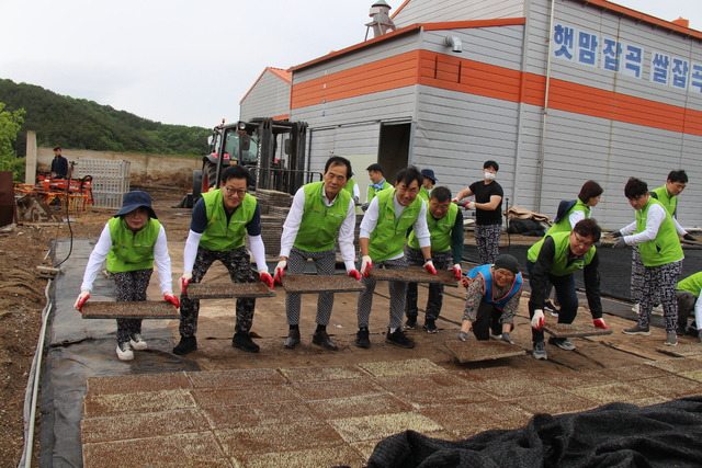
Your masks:
[{"label": "woman in wide-brimmed navy hat and green vest, holding tray", "polygon": [[[105,259],[107,271],[117,285],[117,301],[146,300],[146,288],[156,262],[163,299],[180,307],[171,287],[171,259],[166,231],[156,218],[151,197],[146,192],[125,194],[122,208],[102,230],[88,260],[81,292],[73,305],[76,309],[81,310],[90,298],[92,283]],[[146,341],[141,339],[141,319],[117,319],[117,357],[132,361],[132,350],[146,349]]]}]

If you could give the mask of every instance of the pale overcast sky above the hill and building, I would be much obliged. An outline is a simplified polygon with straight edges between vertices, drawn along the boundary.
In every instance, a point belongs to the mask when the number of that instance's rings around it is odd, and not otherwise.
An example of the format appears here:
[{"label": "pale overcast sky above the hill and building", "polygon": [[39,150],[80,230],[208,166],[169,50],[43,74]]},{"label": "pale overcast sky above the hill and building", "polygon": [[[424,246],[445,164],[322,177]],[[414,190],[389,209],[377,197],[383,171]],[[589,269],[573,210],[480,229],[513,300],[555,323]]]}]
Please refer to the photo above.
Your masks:
[{"label": "pale overcast sky above the hill and building", "polygon": [[[404,0],[386,1],[392,13]],[[702,30],[701,0],[618,3],[668,21],[683,16]],[[288,68],[362,42],[371,4],[0,0],[0,78],[167,124],[212,127],[238,118],[239,101],[267,66]]]}]

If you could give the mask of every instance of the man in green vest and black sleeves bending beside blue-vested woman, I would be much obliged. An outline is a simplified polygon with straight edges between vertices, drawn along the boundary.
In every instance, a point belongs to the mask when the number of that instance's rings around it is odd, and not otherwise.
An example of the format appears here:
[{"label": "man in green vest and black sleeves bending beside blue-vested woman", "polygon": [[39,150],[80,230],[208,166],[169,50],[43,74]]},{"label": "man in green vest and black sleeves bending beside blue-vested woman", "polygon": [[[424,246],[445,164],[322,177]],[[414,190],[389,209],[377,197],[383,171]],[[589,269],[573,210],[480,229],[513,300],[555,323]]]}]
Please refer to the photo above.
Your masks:
[{"label": "man in green vest and black sleeves bending beside blue-vested woman", "polygon": [[[578,221],[570,232],[556,232],[544,237],[533,244],[526,253],[526,271],[531,297],[529,298],[529,317],[531,318],[533,356],[546,359],[544,343],[544,292],[546,283],[551,282],[556,289],[556,297],[561,303],[558,323],[573,323],[578,313],[578,296],[575,289],[577,270],[582,270],[585,279],[585,295],[592,317],[602,317],[600,300],[600,275],[598,267],[600,258],[595,243],[600,240],[602,229],[592,218]],[[597,326],[597,320],[596,326]],[[601,327],[600,327],[601,328]],[[575,345],[567,338],[551,338],[550,344],[562,350],[573,351]]]}]

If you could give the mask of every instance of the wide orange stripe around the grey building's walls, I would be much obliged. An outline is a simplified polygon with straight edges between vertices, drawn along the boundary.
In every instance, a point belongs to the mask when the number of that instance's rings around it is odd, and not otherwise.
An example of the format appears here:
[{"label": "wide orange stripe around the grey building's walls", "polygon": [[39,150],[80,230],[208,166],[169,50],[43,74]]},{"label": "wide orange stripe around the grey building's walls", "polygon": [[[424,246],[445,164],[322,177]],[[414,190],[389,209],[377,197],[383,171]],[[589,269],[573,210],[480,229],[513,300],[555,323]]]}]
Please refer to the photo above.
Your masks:
[{"label": "wide orange stripe around the grey building's walls", "polygon": [[[414,50],[294,84],[291,109],[422,84],[510,102],[543,105],[539,75]],[[702,112],[551,79],[548,109],[702,136]]]}]

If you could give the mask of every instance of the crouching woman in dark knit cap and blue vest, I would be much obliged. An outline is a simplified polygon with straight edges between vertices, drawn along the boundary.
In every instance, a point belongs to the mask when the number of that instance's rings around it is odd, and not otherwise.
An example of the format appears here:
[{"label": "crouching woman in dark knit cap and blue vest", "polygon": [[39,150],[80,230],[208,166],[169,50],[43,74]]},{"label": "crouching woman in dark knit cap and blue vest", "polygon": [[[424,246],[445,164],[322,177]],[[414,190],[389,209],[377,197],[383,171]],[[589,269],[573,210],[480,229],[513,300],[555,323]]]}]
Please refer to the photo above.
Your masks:
[{"label": "crouching woman in dark knit cap and blue vest", "polygon": [[[475,338],[485,341],[501,333],[501,339],[513,343],[510,331],[522,295],[522,274],[512,255],[501,254],[495,264],[476,266],[466,275],[467,299],[458,340],[466,341],[473,330]],[[501,326],[500,326],[501,324]]]}]

